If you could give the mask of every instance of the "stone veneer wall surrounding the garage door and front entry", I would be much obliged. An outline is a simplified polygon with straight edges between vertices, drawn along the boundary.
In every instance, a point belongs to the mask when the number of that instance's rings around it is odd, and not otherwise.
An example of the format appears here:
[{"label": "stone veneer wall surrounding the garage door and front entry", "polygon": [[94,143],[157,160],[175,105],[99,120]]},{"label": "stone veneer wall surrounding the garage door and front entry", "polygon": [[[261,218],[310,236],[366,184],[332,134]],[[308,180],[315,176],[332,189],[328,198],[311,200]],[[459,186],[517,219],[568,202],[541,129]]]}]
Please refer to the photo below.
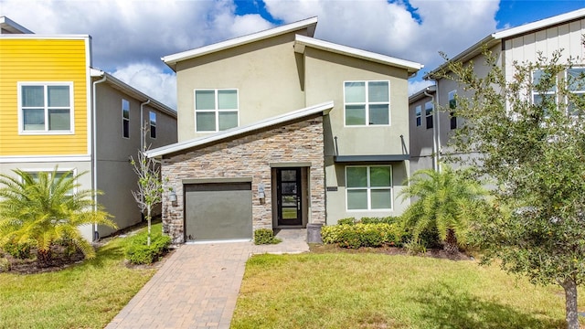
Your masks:
[{"label": "stone veneer wall surrounding the garage door and front entry", "polygon": [[[222,143],[186,150],[163,159],[165,186],[176,191],[176,203],[163,196],[163,231],[175,243],[185,242],[184,179],[252,177],[252,228],[272,228],[270,163],[310,163],[309,223],[325,222],[323,116],[267,128]],[[258,184],[265,186],[265,202]]]}]

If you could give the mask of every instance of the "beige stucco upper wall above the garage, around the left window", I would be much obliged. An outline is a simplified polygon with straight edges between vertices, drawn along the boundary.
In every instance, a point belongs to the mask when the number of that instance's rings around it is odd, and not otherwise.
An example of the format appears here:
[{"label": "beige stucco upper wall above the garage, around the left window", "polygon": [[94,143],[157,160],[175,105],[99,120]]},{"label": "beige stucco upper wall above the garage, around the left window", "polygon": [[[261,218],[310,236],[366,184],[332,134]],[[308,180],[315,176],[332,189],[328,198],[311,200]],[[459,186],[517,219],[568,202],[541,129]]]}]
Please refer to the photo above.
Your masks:
[{"label": "beige stucco upper wall above the garage, around the left window", "polygon": [[196,89],[238,89],[239,126],[304,108],[302,55],[293,51],[294,34],[179,62],[179,142],[209,134],[195,132]]}]

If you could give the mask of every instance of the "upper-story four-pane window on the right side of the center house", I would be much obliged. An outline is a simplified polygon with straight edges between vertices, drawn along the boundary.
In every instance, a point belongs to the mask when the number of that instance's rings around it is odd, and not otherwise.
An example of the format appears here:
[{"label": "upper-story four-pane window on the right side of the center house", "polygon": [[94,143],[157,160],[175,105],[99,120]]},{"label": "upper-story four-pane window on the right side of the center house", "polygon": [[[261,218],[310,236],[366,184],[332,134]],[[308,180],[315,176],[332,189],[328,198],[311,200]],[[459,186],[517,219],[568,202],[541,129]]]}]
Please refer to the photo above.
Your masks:
[{"label": "upper-story four-pane window on the right side of the center house", "polygon": [[346,81],[346,126],[390,124],[389,81]]}]

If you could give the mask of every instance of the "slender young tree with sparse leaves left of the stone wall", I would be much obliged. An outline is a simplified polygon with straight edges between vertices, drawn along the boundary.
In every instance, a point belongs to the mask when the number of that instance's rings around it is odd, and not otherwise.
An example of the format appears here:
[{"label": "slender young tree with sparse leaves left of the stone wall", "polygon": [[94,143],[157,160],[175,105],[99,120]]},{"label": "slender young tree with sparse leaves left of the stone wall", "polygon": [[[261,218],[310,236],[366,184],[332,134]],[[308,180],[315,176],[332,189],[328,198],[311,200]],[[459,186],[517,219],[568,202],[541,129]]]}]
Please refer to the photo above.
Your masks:
[{"label": "slender young tree with sparse leaves left of the stone wall", "polygon": [[153,208],[162,202],[163,199],[163,182],[161,181],[160,167],[156,165],[154,159],[146,157],[145,153],[150,149],[146,145],[146,133],[150,131],[149,127],[144,124],[142,129],[143,149],[138,150],[138,158],[134,161],[131,157],[134,173],[138,175],[138,189],[132,191],[138,207],[144,214],[148,222],[148,239],[147,245],[150,246],[151,236],[151,219],[153,218]]}]

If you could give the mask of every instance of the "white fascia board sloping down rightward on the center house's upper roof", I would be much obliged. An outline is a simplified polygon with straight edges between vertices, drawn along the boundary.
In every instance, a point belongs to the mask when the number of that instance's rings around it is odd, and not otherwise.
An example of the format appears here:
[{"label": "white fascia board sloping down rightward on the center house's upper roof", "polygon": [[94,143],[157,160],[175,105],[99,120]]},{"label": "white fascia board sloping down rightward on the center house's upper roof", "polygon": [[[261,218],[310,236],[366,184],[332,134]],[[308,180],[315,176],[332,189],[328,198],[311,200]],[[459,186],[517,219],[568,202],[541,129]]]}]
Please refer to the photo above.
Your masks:
[{"label": "white fascia board sloping down rightward on the center house's upper roof", "polygon": [[314,37],[296,35],[294,42],[294,50],[296,52],[303,53],[305,47],[317,48],[341,55],[346,55],[354,58],[362,58],[369,61],[395,66],[401,69],[408,69],[409,72],[416,72],[419,69],[424,68],[422,64],[410,60],[393,58],[367,50],[338,45],[333,42],[315,39]]}]

